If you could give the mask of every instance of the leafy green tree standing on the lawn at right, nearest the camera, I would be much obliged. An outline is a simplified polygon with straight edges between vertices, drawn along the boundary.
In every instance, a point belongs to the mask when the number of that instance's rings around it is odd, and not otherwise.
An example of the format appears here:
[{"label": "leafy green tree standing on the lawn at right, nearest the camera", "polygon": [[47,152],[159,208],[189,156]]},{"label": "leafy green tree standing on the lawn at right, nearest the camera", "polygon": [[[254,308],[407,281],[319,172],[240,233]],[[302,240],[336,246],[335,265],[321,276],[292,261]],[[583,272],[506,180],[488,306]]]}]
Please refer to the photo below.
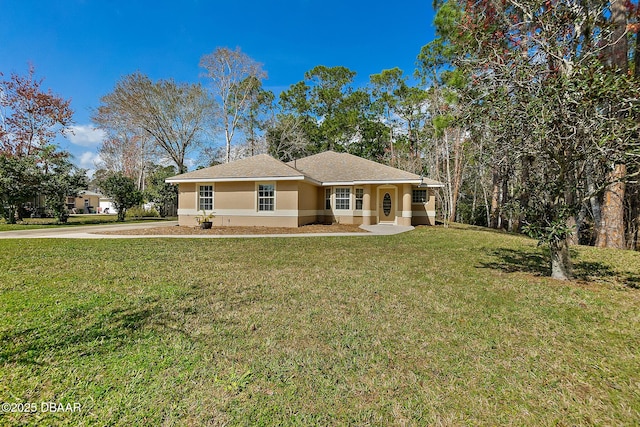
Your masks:
[{"label": "leafy green tree standing on the lawn at right, nearest the camera", "polygon": [[586,165],[636,158],[637,82],[601,57],[610,16],[602,3],[450,0],[436,17],[442,40],[427,49],[431,63],[464,77],[461,119],[493,153],[489,168],[502,171],[493,194],[524,213],[559,279],[571,277],[567,248],[589,198]]}]

